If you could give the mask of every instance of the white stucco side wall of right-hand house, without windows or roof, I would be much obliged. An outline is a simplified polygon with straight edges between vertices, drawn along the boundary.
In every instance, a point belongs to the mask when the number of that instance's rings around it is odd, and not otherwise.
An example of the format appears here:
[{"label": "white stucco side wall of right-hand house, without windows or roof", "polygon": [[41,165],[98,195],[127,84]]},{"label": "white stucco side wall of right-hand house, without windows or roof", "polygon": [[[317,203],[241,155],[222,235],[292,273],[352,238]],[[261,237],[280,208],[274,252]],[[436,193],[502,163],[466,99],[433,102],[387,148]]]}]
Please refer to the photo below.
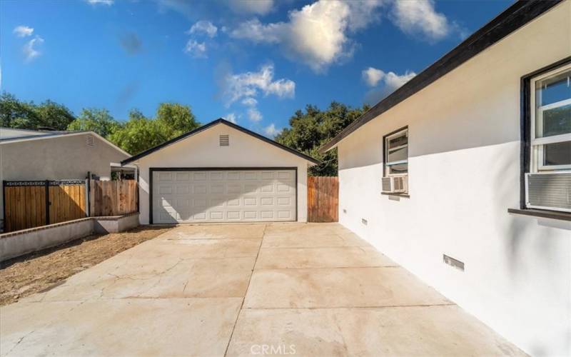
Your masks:
[{"label": "white stucco side wall of right-hand house, without windows or roof", "polygon": [[[340,223],[536,356],[571,355],[571,222],[507,213],[520,78],[571,56],[570,18],[565,1],[338,145]],[[410,198],[395,199],[380,194],[383,136],[403,126]]]}]

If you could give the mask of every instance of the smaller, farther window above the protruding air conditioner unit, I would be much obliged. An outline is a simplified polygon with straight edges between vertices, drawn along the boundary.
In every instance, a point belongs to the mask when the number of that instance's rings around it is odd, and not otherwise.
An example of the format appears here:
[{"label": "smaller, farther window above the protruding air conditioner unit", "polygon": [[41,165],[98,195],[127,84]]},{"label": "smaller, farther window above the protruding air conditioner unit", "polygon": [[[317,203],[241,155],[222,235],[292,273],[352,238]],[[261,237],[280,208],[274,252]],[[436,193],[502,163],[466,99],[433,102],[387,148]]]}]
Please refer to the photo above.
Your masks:
[{"label": "smaller, farther window above the protruding air conditioner unit", "polygon": [[408,128],[385,136],[385,176],[408,174]]}]

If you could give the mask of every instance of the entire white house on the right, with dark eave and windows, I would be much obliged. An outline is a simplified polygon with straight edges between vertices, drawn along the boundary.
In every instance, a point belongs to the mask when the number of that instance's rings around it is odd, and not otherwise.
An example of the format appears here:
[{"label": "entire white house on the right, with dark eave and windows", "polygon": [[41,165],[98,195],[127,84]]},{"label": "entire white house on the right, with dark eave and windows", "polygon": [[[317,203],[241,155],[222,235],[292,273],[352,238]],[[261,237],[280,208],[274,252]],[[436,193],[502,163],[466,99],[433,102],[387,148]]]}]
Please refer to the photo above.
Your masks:
[{"label": "entire white house on the right, with dark eave and windows", "polygon": [[333,148],[343,226],[527,353],[571,355],[571,1],[516,2]]}]

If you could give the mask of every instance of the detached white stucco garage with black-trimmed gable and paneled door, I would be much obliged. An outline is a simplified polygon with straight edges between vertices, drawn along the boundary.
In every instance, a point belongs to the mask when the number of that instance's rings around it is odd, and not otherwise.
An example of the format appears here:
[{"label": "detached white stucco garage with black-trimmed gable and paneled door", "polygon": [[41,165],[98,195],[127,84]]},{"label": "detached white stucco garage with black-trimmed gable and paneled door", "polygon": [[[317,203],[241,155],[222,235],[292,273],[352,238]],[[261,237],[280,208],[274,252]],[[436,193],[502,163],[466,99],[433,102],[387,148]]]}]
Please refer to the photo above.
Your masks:
[{"label": "detached white stucco garage with black-trimmed gable and paneled door", "polygon": [[126,159],[148,223],[307,221],[315,159],[218,119]]}]

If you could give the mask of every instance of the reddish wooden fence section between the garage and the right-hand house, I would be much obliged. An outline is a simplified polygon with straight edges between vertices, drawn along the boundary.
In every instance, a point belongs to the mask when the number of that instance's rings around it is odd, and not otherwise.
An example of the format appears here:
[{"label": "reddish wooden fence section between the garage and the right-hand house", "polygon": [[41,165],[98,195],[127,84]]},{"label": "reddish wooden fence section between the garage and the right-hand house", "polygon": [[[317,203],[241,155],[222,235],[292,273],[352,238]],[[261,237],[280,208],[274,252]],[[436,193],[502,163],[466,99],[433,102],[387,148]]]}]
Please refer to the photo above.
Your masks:
[{"label": "reddish wooden fence section between the garage and the right-hand house", "polygon": [[308,221],[338,221],[338,177],[308,177]]}]

